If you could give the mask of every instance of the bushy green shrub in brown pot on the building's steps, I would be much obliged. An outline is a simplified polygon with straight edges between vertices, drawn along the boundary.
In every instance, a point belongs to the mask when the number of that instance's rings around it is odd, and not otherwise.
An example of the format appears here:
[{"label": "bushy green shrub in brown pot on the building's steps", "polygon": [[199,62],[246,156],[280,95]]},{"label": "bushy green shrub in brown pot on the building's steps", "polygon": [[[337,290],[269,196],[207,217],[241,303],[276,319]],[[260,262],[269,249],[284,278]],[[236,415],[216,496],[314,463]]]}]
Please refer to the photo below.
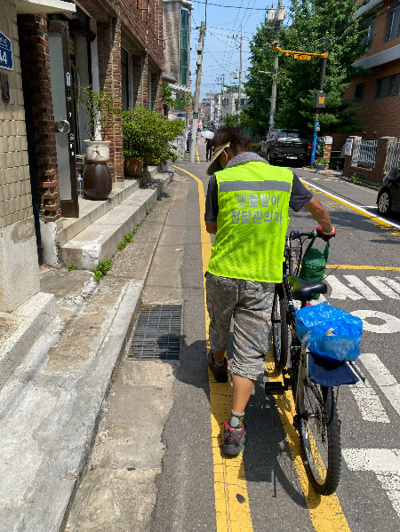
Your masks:
[{"label": "bushy green shrub in brown pot on the building's steps", "polygon": [[122,111],[121,116],[125,175],[139,178],[144,161],[166,164],[168,160],[177,160],[172,140],[184,129],[182,120],[168,120],[156,111],[140,106]]}]

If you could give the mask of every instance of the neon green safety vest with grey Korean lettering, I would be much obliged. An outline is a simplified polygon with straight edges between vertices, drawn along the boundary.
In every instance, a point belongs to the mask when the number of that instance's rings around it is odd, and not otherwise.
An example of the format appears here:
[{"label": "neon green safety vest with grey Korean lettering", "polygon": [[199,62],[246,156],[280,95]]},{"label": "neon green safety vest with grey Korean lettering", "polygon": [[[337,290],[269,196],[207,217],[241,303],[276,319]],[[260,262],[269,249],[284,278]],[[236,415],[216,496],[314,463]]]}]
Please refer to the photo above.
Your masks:
[{"label": "neon green safety vest with grey Korean lettering", "polygon": [[219,211],[207,271],[220,277],[282,282],[292,171],[254,161],[215,176]]}]

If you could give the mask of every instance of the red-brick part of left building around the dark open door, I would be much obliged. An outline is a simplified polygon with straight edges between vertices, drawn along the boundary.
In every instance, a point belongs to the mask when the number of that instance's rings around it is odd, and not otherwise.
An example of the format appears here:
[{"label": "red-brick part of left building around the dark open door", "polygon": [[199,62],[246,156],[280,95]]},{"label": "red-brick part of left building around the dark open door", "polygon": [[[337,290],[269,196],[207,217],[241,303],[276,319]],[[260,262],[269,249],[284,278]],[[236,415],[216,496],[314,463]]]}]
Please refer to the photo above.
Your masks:
[{"label": "red-brick part of left building around the dark open door", "polygon": [[[13,0],[11,2],[13,4]],[[162,112],[162,0],[44,0],[17,4],[29,174],[39,254],[57,262],[57,232],[79,216],[76,155],[89,139],[74,88],[112,92],[116,106]],[[15,9],[15,8],[14,8]],[[66,119],[70,131],[56,124]],[[105,138],[114,187],[124,187],[120,123]]]}]

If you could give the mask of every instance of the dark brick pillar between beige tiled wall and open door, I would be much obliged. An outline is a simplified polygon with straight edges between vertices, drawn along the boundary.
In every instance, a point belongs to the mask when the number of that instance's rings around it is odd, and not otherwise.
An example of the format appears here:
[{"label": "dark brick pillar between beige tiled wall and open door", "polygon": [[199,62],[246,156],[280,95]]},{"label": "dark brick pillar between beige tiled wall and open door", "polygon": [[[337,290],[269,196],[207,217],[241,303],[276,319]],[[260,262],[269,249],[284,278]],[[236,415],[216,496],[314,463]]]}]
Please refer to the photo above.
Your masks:
[{"label": "dark brick pillar between beige tiled wall and open door", "polygon": [[55,222],[61,218],[61,207],[47,24],[43,15],[18,18],[25,108],[31,125],[28,143],[39,215],[45,222]]}]

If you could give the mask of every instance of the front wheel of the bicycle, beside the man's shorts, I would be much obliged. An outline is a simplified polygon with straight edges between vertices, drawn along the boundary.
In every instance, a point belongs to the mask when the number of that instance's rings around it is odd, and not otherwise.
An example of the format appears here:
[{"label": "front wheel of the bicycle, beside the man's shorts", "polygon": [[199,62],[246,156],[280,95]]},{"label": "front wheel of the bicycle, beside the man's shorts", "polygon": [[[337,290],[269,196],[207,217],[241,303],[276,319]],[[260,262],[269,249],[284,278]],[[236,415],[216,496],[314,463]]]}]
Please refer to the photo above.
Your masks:
[{"label": "front wheel of the bicycle, beside the man's shorts", "polygon": [[274,303],[272,304],[272,341],[275,367],[279,371],[284,369],[290,349],[291,330],[286,320],[286,303],[284,298],[279,297],[276,290]]}]

